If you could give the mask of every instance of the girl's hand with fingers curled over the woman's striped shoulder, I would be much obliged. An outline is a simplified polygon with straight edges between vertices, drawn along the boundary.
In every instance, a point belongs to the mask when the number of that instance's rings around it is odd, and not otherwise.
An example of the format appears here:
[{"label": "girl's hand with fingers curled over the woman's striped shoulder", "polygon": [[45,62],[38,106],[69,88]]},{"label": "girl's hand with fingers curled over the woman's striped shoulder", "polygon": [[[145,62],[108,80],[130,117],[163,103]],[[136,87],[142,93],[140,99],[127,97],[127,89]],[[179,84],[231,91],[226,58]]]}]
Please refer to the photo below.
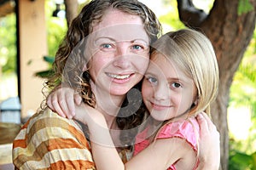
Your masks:
[{"label": "girl's hand with fingers curled over the woman's striped shoulder", "polygon": [[47,105],[52,111],[55,111],[62,117],[71,119],[75,115],[75,104],[80,105],[82,98],[76,94],[73,88],[62,87],[55,88],[46,99]]}]

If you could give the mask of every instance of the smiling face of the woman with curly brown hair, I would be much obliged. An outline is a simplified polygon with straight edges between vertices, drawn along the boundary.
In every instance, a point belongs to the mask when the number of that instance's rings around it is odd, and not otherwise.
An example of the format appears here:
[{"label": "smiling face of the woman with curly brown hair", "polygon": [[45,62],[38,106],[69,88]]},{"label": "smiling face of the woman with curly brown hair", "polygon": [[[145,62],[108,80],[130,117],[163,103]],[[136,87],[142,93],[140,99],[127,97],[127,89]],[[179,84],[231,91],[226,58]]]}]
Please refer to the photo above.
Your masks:
[{"label": "smiling face of the woman with curly brown hair", "polygon": [[88,38],[90,77],[96,88],[126,94],[148,68],[149,39],[137,15],[109,9]]}]

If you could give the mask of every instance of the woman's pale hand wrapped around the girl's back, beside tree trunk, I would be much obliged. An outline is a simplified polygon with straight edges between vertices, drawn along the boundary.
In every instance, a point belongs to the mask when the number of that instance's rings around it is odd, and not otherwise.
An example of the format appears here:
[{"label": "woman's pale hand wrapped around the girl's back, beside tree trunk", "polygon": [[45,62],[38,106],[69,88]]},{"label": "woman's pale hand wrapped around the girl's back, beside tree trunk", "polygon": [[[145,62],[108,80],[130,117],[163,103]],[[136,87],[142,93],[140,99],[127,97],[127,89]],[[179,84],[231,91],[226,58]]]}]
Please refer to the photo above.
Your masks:
[{"label": "woman's pale hand wrapped around the girl's back, beside tree trunk", "polygon": [[198,169],[218,170],[220,163],[220,140],[219,133],[206,113],[196,116],[201,127],[199,140],[199,159]]}]

